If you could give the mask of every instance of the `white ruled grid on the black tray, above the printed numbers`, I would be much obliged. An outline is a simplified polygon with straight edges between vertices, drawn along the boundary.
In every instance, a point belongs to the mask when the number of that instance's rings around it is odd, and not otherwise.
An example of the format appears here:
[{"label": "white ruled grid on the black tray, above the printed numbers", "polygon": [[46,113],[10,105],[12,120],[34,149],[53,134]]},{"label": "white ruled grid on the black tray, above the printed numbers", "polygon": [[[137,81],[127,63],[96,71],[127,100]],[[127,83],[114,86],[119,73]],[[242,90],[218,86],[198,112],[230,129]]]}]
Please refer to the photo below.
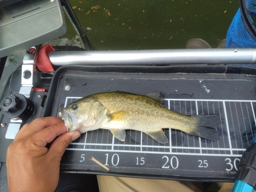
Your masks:
[{"label": "white ruled grid on the black tray, above the printed numbers", "polygon": [[[65,106],[80,97],[67,97]],[[158,143],[144,133],[126,130],[125,142],[109,130],[95,130],[81,135],[67,150],[129,153],[160,153],[205,156],[242,156],[253,139],[256,100],[165,99],[166,108],[184,115],[219,114],[220,139],[212,142],[174,129],[164,129],[169,142]]]}]

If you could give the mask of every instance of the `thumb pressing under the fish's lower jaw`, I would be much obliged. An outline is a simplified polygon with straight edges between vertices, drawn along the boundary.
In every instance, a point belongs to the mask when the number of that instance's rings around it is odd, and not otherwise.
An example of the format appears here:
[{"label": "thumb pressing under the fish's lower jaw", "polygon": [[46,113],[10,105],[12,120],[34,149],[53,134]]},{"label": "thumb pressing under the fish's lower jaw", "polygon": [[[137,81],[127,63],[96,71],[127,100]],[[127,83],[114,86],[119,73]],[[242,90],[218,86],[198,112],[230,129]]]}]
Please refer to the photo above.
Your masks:
[{"label": "thumb pressing under the fish's lower jaw", "polygon": [[48,151],[49,158],[58,158],[59,161],[65,152],[66,148],[69,146],[69,144],[80,137],[79,131],[74,131],[71,133],[65,133],[59,136],[50,146]]}]

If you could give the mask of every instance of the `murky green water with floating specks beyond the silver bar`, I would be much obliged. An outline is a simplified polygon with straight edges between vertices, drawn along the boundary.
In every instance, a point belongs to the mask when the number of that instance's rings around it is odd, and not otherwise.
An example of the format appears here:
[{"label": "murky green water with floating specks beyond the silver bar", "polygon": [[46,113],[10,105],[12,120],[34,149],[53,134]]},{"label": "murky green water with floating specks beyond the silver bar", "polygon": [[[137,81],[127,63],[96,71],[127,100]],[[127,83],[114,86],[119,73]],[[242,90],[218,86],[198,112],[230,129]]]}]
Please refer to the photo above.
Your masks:
[{"label": "murky green water with floating specks beyond the silver bar", "polygon": [[[212,48],[226,38],[238,0],[70,0],[98,50],[183,49],[191,38]],[[75,38],[69,20],[63,37]]]}]

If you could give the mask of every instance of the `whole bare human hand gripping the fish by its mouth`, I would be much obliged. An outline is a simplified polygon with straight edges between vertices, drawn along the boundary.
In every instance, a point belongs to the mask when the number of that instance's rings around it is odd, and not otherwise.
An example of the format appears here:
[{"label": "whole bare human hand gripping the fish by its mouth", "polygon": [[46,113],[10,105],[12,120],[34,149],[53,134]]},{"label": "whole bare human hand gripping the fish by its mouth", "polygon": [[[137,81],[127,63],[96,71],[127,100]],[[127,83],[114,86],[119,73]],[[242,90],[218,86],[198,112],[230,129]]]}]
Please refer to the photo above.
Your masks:
[{"label": "whole bare human hand gripping the fish by its mouth", "polygon": [[[19,130],[7,150],[9,191],[56,189],[61,157],[68,145],[80,137],[78,131],[66,132],[64,122],[57,117],[37,118]],[[52,141],[48,149],[46,145]]]}]

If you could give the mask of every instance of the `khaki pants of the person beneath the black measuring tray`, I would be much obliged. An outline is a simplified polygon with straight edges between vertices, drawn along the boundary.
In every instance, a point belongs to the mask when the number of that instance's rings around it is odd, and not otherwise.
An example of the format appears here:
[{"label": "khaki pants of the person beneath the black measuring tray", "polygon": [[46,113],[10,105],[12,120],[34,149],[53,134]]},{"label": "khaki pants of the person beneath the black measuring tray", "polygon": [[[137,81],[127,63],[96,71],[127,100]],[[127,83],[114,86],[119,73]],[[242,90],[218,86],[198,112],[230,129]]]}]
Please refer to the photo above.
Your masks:
[{"label": "khaki pants of the person beneath the black measuring tray", "polygon": [[[179,182],[160,179],[140,179],[129,177],[115,177],[97,175],[100,192],[151,192],[151,191],[182,191],[201,192],[203,188],[200,182]],[[219,192],[231,191],[233,183],[218,183],[221,187]]]}]

